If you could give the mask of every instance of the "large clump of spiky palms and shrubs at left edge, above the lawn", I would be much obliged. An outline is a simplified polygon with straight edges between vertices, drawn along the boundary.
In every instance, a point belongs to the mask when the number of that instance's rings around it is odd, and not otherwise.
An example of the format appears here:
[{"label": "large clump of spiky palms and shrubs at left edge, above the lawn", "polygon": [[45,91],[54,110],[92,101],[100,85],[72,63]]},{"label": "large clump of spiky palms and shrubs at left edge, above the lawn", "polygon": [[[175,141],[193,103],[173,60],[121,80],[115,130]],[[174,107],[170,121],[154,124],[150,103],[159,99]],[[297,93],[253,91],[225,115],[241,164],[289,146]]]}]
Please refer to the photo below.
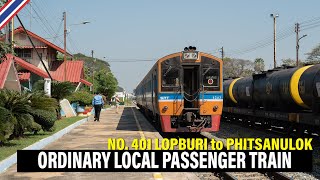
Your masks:
[{"label": "large clump of spiky palms and shrubs at left edge, above the lawn", "polygon": [[56,109],[57,101],[41,93],[0,90],[0,143],[25,132],[50,130]]}]

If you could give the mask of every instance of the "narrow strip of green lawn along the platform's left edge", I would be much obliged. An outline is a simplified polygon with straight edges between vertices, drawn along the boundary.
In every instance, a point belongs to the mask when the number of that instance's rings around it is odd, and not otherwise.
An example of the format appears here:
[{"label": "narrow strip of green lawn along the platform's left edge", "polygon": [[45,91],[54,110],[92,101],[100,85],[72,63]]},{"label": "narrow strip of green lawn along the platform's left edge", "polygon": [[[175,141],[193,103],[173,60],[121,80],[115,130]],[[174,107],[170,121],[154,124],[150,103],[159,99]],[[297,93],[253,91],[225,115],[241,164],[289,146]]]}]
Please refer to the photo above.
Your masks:
[{"label": "narrow strip of green lawn along the platform's left edge", "polygon": [[16,153],[17,150],[26,148],[31,144],[38,142],[41,139],[51,136],[52,134],[64,129],[65,127],[84,119],[85,117],[72,117],[72,118],[64,118],[62,120],[58,120],[55,122],[55,131],[53,132],[44,132],[40,131],[38,134],[32,133],[25,133],[25,137],[20,139],[14,139],[3,146],[0,147],[0,161],[4,160],[5,158],[11,156],[12,154]]}]

